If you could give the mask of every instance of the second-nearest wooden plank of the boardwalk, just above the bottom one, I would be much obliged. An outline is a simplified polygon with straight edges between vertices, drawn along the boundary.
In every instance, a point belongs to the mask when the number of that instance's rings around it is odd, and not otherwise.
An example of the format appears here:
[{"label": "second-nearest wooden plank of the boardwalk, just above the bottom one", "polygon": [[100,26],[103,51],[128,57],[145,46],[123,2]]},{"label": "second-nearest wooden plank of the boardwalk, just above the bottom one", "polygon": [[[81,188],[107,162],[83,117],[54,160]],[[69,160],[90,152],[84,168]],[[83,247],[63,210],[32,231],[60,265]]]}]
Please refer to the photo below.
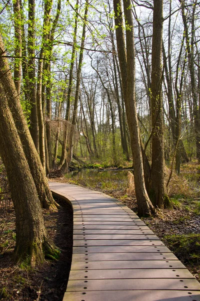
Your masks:
[{"label": "second-nearest wooden plank of the boardwalk, just above the bottom one", "polygon": [[132,290],[132,289],[167,289],[167,290],[200,290],[200,283],[196,279],[106,279],[88,280],[68,280],[67,291],[86,291],[88,290]]}]

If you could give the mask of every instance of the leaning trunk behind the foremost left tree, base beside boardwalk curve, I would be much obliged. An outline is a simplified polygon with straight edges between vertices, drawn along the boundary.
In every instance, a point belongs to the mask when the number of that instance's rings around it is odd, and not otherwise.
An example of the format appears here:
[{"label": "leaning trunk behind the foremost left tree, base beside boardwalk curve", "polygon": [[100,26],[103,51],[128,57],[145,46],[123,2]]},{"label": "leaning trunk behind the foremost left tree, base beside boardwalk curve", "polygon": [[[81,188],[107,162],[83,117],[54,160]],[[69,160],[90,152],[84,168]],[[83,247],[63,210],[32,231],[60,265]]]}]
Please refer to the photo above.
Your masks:
[{"label": "leaning trunk behind the foremost left tree, base beside boardwalk curve", "polygon": [[[0,37],[0,56],[3,53],[4,47]],[[15,126],[23,146],[25,157],[34,180],[41,205],[44,208],[55,208],[57,205],[53,200],[49,190],[48,181],[30,136],[29,129],[20,105],[20,99],[17,95],[10,68],[5,58],[0,58],[0,82],[6,93],[8,105],[13,115]]]}]

